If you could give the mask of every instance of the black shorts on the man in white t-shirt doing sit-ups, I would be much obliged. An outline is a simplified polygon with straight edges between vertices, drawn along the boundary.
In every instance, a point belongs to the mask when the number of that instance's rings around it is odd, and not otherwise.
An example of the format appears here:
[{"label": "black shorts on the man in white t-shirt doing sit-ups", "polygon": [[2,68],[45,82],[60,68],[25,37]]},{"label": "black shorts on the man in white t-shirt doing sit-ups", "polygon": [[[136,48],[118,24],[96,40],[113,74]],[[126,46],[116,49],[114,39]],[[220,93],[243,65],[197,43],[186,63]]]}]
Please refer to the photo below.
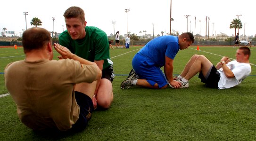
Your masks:
[{"label": "black shorts on the man in white t-shirt doing sit-ups", "polygon": [[204,82],[209,87],[219,88],[218,83],[221,78],[221,75],[220,75],[219,71],[217,71],[217,69],[215,68],[214,65],[213,65],[211,72],[207,79],[204,77],[202,71],[199,73],[198,78],[200,78],[201,82]]}]

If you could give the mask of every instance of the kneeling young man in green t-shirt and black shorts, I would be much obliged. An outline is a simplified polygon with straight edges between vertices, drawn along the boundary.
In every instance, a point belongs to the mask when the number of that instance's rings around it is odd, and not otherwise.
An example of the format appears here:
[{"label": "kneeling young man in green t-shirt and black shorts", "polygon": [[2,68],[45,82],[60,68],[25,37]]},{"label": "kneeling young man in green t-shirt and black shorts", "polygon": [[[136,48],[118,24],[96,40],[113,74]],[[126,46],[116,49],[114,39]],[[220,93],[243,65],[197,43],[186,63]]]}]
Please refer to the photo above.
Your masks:
[{"label": "kneeling young man in green t-shirt and black shorts", "polygon": [[97,27],[86,26],[82,8],[70,7],[63,16],[67,30],[59,35],[59,44],[67,47],[75,55],[95,62],[102,70],[102,77],[97,80],[96,88],[89,83],[81,83],[77,86],[87,88],[88,92],[94,91],[92,100],[94,109],[97,105],[108,109],[113,101],[112,81],[115,74],[113,62],[109,57],[107,34]]}]

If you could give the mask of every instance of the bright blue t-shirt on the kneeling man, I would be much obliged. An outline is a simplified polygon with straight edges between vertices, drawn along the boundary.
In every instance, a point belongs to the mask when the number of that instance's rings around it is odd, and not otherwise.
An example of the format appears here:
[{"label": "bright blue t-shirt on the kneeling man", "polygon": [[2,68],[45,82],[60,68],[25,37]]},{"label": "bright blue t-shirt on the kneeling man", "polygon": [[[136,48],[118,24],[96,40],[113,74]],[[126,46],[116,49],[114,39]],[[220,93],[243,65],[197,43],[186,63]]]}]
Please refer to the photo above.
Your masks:
[{"label": "bright blue t-shirt on the kneeling man", "polygon": [[168,35],[152,39],[140,49],[138,54],[145,56],[149,65],[161,68],[165,65],[165,56],[174,59],[179,49],[178,37]]}]

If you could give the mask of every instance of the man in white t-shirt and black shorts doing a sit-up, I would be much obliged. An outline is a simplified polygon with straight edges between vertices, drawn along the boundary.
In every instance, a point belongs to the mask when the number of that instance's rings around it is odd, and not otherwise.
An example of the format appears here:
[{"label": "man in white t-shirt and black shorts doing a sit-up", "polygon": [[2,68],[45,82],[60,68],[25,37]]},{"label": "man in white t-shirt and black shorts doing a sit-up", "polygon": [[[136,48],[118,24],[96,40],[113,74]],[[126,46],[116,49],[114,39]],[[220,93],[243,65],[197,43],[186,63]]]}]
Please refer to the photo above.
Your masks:
[{"label": "man in white t-shirt and black shorts doing a sit-up", "polygon": [[239,47],[236,51],[236,60],[230,61],[223,57],[214,66],[204,55],[193,55],[186,64],[179,81],[183,87],[189,87],[189,80],[199,72],[198,78],[207,86],[218,89],[227,89],[239,85],[251,73],[249,64],[250,49]]}]

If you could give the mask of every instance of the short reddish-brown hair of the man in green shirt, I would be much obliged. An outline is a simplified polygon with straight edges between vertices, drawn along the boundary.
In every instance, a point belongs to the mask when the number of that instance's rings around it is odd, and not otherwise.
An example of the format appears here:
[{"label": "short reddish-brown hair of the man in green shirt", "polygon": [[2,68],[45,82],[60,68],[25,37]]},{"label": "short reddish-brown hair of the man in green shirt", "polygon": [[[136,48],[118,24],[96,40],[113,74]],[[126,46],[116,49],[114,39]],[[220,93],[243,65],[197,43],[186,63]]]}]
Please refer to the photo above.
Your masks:
[{"label": "short reddish-brown hair of the man in green shirt", "polygon": [[82,23],[85,22],[85,14],[82,8],[70,7],[67,8],[63,15],[65,18],[79,18]]}]

